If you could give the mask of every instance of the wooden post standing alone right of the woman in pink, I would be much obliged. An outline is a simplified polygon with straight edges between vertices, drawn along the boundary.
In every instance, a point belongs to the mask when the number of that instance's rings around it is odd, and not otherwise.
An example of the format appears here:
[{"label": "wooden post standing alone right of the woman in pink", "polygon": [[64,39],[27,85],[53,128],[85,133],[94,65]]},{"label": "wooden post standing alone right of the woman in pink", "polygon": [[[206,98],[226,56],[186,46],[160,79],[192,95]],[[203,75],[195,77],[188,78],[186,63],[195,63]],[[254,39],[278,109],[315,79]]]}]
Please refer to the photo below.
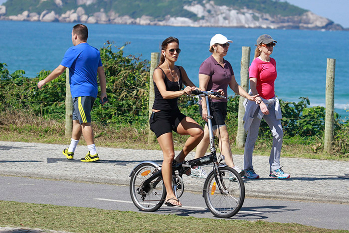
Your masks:
[{"label": "wooden post standing alone right of the woman in pink", "polygon": [[335,113],[335,68],[336,59],[327,58],[326,70],[326,116],[325,116],[325,146],[324,151],[331,152],[333,142]]}]

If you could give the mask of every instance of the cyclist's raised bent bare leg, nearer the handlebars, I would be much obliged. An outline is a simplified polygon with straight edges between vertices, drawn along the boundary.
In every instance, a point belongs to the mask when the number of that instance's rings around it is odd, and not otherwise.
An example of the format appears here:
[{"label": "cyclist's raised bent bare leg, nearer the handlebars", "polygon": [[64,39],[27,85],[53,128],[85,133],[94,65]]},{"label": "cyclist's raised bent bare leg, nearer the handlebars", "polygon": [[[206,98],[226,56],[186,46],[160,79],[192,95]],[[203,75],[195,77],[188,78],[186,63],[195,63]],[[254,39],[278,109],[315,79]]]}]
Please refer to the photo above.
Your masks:
[{"label": "cyclist's raised bent bare leg, nearer the handlebars", "polygon": [[185,156],[189,154],[203,138],[203,130],[196,121],[190,117],[185,117],[177,127],[177,133],[180,135],[190,135],[186,140],[182,151],[177,155],[176,161],[182,162]]}]

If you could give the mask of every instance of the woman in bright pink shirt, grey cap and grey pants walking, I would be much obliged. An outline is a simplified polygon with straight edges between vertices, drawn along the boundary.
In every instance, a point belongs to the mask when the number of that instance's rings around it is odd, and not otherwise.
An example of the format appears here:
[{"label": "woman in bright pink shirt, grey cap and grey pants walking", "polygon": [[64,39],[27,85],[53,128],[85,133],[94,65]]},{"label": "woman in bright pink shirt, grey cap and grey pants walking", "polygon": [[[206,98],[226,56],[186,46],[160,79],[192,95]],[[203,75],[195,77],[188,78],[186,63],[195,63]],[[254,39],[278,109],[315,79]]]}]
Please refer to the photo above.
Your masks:
[{"label": "woman in bright pink shirt, grey cap and grey pants walking", "polygon": [[252,166],[252,154],[254,144],[258,137],[259,125],[262,118],[267,122],[273,135],[273,147],[269,157],[269,176],[278,179],[288,179],[290,175],[285,173],[280,166],[280,155],[283,138],[281,125],[281,109],[278,98],[275,96],[274,81],[277,76],[275,59],[270,57],[273,53],[275,41],[270,35],[263,34],[258,37],[254,60],[248,69],[250,87],[253,95],[259,94],[257,104],[245,100],[244,128],[248,132],[245,152],[244,170],[245,178],[258,179]]}]

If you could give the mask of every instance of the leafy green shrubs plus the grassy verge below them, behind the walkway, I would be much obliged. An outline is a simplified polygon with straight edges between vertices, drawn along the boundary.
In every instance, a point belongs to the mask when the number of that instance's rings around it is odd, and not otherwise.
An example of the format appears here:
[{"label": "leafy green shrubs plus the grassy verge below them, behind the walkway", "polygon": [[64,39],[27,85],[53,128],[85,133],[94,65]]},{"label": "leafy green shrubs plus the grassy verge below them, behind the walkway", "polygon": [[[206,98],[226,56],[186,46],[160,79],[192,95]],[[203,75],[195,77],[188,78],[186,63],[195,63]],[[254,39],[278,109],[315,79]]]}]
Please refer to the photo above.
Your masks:
[{"label": "leafy green shrubs plus the grassy verge below them, behind the walkway", "polygon": [[[132,55],[124,56],[124,44],[114,52],[114,46],[107,41],[105,47],[100,49],[105,72],[108,77],[107,93],[109,103],[103,107],[99,99],[95,102],[92,118],[97,140],[102,140],[104,145],[126,145],[126,147],[144,147],[147,144],[148,130],[148,105],[149,105],[149,61],[141,60]],[[51,142],[56,142],[55,137],[63,137],[65,116],[65,75],[47,83],[42,90],[36,84],[49,74],[42,70],[37,77],[27,78],[23,70],[10,74],[6,64],[0,63],[0,129],[2,127],[2,140],[7,140],[16,134],[9,132],[30,132],[27,139],[43,140],[52,135]],[[235,144],[238,96],[228,99],[228,115],[226,124],[232,144]],[[315,154],[323,148],[325,128],[325,108],[310,105],[309,99],[301,97],[298,103],[280,100],[284,128],[284,147],[303,148],[296,154]],[[179,107],[182,112],[203,125],[203,120],[198,114],[198,105],[192,97],[179,98]],[[21,121],[10,119],[11,116],[22,117]],[[39,122],[40,127],[33,127],[30,120]],[[16,118],[14,118],[16,119]],[[45,121],[57,123],[45,124]],[[22,123],[24,122],[24,124]],[[54,125],[50,129],[50,124]],[[349,157],[349,121],[344,121],[335,114],[335,134],[333,155],[337,158]],[[54,134],[55,133],[55,134]],[[20,133],[18,133],[20,135]],[[260,149],[269,151],[271,133],[265,121],[262,121],[256,151]],[[17,136],[15,136],[17,137]],[[23,135],[19,136],[23,138]],[[25,137],[24,137],[25,138]],[[174,135],[175,146],[180,148],[186,138]],[[115,143],[121,142],[120,144]],[[141,146],[142,145],[142,146]],[[147,147],[147,146],[145,146]],[[309,152],[304,152],[307,147]],[[147,147],[149,149],[149,147]],[[285,153],[283,151],[283,153]],[[287,154],[287,153],[286,153]],[[295,154],[295,153],[289,153]],[[334,157],[335,158],[335,157]]]}]

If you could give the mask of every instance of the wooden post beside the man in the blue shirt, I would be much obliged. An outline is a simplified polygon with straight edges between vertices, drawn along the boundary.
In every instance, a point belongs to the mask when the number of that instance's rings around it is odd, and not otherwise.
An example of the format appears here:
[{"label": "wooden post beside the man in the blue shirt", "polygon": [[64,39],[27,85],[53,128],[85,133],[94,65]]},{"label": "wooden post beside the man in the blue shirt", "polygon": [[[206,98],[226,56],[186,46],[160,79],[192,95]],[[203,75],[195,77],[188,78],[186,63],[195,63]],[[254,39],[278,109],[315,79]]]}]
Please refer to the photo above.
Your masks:
[{"label": "wooden post beside the man in the blue shirt", "polygon": [[69,68],[65,70],[65,136],[71,137],[73,131],[73,99],[69,84]]}]

